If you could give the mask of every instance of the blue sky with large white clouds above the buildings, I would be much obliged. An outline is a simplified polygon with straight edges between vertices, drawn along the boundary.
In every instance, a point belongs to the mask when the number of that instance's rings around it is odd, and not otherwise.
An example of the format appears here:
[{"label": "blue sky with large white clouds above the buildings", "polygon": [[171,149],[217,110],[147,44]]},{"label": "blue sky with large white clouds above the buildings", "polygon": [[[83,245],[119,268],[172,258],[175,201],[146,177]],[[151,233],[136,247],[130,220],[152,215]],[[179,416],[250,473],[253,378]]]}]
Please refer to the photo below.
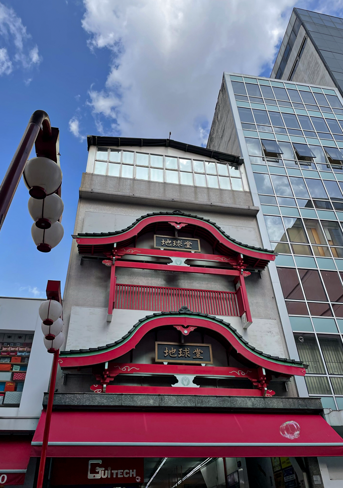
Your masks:
[{"label": "blue sky with large white clouds above the buildings", "polygon": [[[20,183],[0,231],[0,296],[64,287],[87,134],[206,145],[223,71],[269,76],[293,7],[343,0],[0,0],[0,181],[31,114],[60,129],[64,237],[31,237]],[[32,154],[32,157],[35,154]]]}]

